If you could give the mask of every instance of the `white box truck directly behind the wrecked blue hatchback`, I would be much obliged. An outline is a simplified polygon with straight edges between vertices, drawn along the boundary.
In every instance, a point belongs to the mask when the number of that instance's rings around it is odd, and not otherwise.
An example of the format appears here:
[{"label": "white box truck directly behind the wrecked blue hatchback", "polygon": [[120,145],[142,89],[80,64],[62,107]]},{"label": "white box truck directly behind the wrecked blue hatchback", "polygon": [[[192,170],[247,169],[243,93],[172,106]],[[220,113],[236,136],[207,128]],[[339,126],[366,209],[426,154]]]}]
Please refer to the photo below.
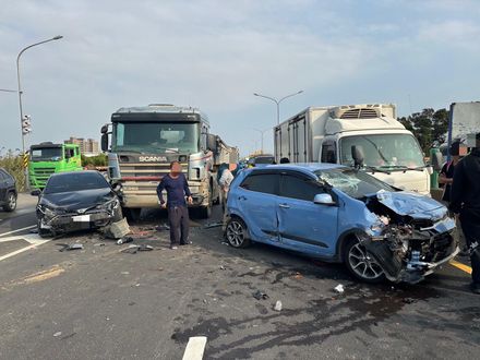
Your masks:
[{"label": "white box truck directly behind the wrecked blue hatchback", "polygon": [[357,166],[396,188],[430,195],[432,168],[393,104],[309,107],[274,128],[275,160]]}]

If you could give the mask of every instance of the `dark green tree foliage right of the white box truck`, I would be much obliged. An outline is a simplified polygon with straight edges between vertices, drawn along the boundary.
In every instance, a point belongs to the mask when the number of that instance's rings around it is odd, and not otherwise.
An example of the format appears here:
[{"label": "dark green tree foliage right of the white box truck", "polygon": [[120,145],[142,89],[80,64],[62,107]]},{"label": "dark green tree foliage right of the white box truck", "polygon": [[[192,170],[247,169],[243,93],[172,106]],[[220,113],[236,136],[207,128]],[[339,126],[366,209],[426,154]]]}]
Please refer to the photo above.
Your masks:
[{"label": "dark green tree foliage right of the white box truck", "polygon": [[423,109],[409,117],[398,118],[404,127],[411,131],[425,154],[434,145],[445,142],[448,131],[448,111],[446,109]]}]

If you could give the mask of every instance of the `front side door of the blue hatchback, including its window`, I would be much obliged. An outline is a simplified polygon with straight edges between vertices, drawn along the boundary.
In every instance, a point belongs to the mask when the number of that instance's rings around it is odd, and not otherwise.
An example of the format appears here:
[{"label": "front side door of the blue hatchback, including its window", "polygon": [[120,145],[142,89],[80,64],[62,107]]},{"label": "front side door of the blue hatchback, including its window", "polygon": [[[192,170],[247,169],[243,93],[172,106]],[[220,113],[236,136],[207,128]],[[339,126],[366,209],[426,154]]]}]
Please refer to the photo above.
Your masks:
[{"label": "front side door of the blue hatchback, including its window", "polygon": [[338,207],[313,203],[326,190],[307,175],[284,172],[278,196],[278,232],[283,247],[303,253],[334,255]]}]

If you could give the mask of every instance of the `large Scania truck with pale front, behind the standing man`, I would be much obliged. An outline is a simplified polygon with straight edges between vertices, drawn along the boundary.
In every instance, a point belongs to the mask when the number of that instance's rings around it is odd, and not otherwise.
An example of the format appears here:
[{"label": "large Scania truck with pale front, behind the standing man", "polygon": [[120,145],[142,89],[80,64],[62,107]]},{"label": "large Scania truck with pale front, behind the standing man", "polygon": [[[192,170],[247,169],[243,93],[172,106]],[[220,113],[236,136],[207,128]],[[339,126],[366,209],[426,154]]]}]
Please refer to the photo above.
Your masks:
[{"label": "large Scania truck with pale front, behind the standing man", "polygon": [[173,160],[182,164],[192,207],[209,217],[219,195],[217,167],[238,161],[238,149],[212,134],[207,117],[196,108],[161,104],[121,108],[112,113],[111,124],[101,128],[101,149],[108,151],[108,177],[123,214],[133,219],[142,208],[159,206],[156,187]]}]

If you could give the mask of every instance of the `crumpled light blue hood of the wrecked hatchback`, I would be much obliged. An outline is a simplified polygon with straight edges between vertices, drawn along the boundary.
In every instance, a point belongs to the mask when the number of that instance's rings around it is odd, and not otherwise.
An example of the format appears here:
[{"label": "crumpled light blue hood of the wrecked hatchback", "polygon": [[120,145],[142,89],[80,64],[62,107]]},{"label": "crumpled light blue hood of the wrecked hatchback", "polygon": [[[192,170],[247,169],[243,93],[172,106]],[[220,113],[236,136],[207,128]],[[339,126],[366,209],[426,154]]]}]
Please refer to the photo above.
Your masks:
[{"label": "crumpled light blue hood of the wrecked hatchback", "polygon": [[418,193],[379,191],[372,196],[376,196],[380,203],[401,216],[437,220],[445,217],[448,212],[437,201]]}]

